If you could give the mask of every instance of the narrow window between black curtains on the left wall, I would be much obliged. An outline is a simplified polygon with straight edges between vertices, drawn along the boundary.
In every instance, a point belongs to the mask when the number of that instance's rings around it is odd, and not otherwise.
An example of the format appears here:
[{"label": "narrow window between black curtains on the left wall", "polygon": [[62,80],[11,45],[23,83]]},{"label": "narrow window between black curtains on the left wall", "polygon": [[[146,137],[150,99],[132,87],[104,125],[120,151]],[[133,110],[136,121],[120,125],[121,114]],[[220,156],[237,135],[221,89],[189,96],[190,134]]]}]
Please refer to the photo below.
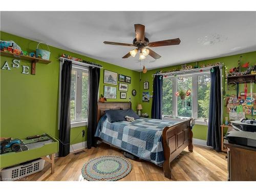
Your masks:
[{"label": "narrow window between black curtains on the left wall", "polygon": [[75,65],[71,76],[70,116],[73,127],[84,125],[88,117],[88,70]]}]

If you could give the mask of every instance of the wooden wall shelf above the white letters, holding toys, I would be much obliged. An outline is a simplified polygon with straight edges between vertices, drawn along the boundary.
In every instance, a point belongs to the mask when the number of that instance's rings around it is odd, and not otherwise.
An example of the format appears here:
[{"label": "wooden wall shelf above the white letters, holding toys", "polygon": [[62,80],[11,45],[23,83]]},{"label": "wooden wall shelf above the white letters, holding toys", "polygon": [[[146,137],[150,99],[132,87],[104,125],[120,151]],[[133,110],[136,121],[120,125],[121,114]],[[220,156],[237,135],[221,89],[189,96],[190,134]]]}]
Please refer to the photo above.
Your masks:
[{"label": "wooden wall shelf above the white letters, holding toys", "polygon": [[4,52],[4,51],[1,51],[1,56],[8,56],[8,57],[19,58],[19,59],[31,61],[31,74],[32,75],[35,75],[35,65],[37,62],[42,63],[42,64],[49,64],[51,62],[50,60],[46,60],[46,59],[40,59],[40,58],[30,57],[30,56],[25,56],[25,55],[19,55],[16,53],[9,53],[9,52]]}]

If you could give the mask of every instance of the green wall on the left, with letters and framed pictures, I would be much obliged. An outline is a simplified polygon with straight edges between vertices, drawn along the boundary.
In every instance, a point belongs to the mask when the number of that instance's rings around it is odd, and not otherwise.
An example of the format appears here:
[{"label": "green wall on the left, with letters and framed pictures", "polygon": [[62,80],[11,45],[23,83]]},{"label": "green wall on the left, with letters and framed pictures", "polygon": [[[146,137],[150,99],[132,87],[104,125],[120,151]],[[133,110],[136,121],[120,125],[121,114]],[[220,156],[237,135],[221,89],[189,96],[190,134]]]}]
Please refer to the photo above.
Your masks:
[{"label": "green wall on the left, with letters and framed pictures", "polygon": [[[18,37],[1,31],[1,40],[13,40],[24,51],[33,52],[37,42],[30,39]],[[42,46],[42,48],[44,48]],[[59,90],[59,61],[60,54],[65,53],[73,57],[82,58],[102,65],[105,70],[114,71],[132,77],[127,99],[120,99],[120,92],[117,91],[117,99],[108,101],[129,101],[132,98],[132,108],[136,110],[139,96],[132,96],[132,90],[139,90],[139,73],[119,66],[112,65],[83,55],[71,53],[55,47],[50,47],[52,61],[48,65],[38,63],[36,65],[36,75],[22,74],[22,67],[31,63],[20,59],[19,68],[1,71],[1,137],[25,138],[30,135],[48,133],[58,137],[58,90]],[[1,68],[5,61],[12,66],[14,58],[1,56]],[[29,70],[30,71],[30,70]],[[103,94],[103,69],[101,69],[99,94]],[[118,86],[114,86],[117,87]],[[71,128],[71,143],[85,141],[82,138],[82,130],[87,130],[86,126]]]}]

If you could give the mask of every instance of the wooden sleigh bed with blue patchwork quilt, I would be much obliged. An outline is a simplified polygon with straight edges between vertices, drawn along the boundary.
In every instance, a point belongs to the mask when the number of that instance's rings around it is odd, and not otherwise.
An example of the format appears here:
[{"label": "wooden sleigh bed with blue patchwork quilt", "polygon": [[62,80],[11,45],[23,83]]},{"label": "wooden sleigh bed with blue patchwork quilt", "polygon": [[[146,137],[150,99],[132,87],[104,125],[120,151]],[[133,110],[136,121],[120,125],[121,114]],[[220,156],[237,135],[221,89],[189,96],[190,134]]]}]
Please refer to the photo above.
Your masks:
[{"label": "wooden sleigh bed with blue patchwork quilt", "polygon": [[95,136],[102,142],[163,167],[171,179],[171,162],[188,146],[193,152],[193,120],[182,122],[139,118],[134,122],[110,123],[106,110],[131,109],[131,102],[98,102],[98,127]]}]

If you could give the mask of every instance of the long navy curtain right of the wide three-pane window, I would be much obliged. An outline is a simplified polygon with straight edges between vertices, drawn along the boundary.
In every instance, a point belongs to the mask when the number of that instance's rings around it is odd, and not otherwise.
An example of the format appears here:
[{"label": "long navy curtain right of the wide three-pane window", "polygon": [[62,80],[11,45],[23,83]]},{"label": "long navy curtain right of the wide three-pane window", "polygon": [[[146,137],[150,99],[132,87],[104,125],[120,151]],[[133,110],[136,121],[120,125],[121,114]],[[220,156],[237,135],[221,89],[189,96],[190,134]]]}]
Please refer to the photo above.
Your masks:
[{"label": "long navy curtain right of the wide three-pane window", "polygon": [[210,73],[210,104],[207,145],[221,152],[221,76],[220,68],[214,67]]}]

